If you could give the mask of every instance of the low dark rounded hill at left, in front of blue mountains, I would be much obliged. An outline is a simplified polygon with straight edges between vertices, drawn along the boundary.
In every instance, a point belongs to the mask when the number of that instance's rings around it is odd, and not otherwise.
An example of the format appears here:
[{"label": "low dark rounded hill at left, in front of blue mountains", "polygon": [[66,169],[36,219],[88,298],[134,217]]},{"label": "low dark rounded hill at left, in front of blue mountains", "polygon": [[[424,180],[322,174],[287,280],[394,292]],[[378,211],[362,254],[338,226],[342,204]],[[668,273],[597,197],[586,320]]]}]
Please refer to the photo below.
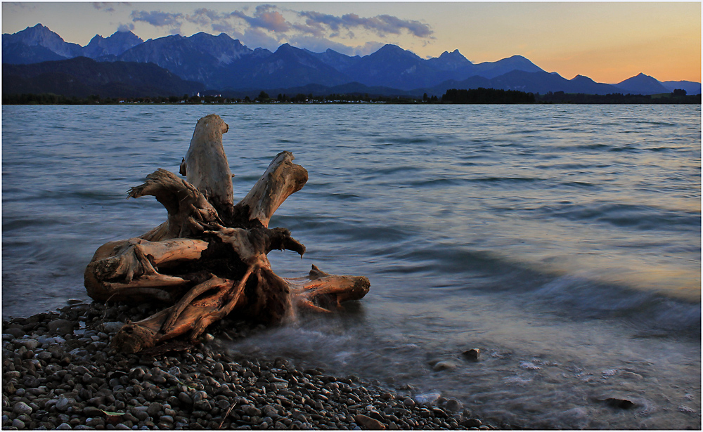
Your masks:
[{"label": "low dark rounded hill at left, in front of blue mountains", "polygon": [[202,84],[183,81],[149,63],[98,63],[85,57],[32,65],[2,67],[4,94],[56,93],[109,98],[182,96],[202,91]]}]

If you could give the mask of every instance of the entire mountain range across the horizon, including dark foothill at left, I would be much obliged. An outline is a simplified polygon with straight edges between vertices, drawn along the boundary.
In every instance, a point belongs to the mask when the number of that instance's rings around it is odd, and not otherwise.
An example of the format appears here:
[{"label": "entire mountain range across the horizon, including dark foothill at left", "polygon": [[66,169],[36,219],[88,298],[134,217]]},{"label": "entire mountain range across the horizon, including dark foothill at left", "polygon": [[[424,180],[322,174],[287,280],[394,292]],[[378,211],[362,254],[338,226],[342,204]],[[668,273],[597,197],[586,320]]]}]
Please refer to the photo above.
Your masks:
[{"label": "entire mountain range across the horizon, including dark foothill at left", "polygon": [[[89,59],[92,63],[87,61]],[[447,89],[477,87],[532,93],[656,94],[673,89],[701,93],[699,83],[662,82],[645,74],[617,84],[601,84],[581,75],[565,79],[555,72],[542,70],[520,55],[496,62],[472,63],[455,50],[445,51],[438,58],[423,59],[391,44],[364,56],[344,55],[331,49],[314,53],[289,44],[272,52],[265,48],[248,48],[224,33],[214,36],[202,32],[191,37],[173,35],[147,41],[132,32],[115,32],[107,38],[96,35],[88,45],[80,46],[64,41],[41,24],[14,34],[3,34],[2,62],[3,91],[11,93],[19,93],[20,88],[41,87],[42,80],[54,84],[65,82],[69,75],[79,82],[87,80],[86,86],[91,89],[112,85],[113,88],[122,86],[129,87],[130,91],[146,91],[149,83],[158,84],[158,79],[153,81],[157,74],[165,72],[170,74],[163,75],[163,82],[168,81],[174,92],[179,89],[174,95],[188,93],[188,89],[191,92],[209,89],[220,93],[262,90],[293,93],[290,90],[314,88],[317,90],[314,93],[342,93],[335,89],[346,88],[356,93],[441,96]],[[41,63],[41,67],[34,65],[36,63]],[[148,64],[165,71],[146,68]],[[82,72],[81,67],[85,68]],[[100,72],[96,72],[98,70]],[[100,73],[101,78],[91,77],[86,73],[89,71]],[[122,76],[124,73],[127,75]],[[177,84],[176,79],[180,79]],[[161,86],[151,93],[161,93],[164,89]]]}]

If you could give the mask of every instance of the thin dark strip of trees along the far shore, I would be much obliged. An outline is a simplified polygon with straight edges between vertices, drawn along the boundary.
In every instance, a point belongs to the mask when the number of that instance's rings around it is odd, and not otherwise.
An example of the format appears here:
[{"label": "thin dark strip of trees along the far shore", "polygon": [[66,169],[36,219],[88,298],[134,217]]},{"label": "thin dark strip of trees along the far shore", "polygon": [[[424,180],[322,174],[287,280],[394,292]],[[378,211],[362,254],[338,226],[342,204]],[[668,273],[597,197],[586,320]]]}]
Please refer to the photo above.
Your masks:
[{"label": "thin dark strip of trees along the far shore", "polygon": [[211,96],[154,96],[141,98],[101,98],[99,95],[87,97],[63,96],[54,93],[3,94],[3,105],[118,105],[118,104],[230,104],[230,103],[418,103],[418,104],[700,104],[701,95],[686,95],[683,90],[658,95],[631,95],[613,93],[594,95],[565,93],[563,91],[545,94],[527,93],[517,90],[498,89],[449,89],[441,98],[427,96],[369,96],[368,94],[330,94],[314,96],[299,93],[287,96],[279,93],[276,97],[262,91],[256,98],[231,98],[221,95]]}]

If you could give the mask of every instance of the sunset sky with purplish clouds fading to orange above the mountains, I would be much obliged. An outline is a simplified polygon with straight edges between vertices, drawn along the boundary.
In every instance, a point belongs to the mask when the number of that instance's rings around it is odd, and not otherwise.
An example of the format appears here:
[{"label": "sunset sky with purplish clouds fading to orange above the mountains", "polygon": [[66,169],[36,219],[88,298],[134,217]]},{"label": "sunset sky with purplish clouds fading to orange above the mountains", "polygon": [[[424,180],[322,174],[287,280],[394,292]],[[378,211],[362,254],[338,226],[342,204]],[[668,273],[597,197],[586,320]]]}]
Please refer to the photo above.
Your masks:
[{"label": "sunset sky with purplish clouds fading to orange above the mountains", "polygon": [[286,42],[347,55],[396,44],[423,58],[458,49],[473,63],[524,55],[567,79],[617,83],[643,72],[701,81],[701,3],[164,2],[6,3],[2,32],[41,23],[85,46],[96,34],[142,39],[224,32],[249,48]]}]

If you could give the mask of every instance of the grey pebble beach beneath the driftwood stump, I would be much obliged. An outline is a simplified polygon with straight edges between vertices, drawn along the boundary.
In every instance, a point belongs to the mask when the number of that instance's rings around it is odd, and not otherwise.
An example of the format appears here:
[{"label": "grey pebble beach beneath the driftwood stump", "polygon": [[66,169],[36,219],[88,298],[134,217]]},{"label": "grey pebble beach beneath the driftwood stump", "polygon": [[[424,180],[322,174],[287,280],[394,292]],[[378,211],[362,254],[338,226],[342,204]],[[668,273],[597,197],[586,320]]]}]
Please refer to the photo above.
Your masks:
[{"label": "grey pebble beach beneath the driftwood stump", "polygon": [[420,403],[285,358],[235,360],[218,336],[241,339],[256,331],[245,322],[222,320],[200,343],[171,343],[172,351],[117,353],[109,342],[122,324],[156,310],[68,302],[56,312],[3,320],[2,428],[513,428],[484,424],[454,399]]}]

